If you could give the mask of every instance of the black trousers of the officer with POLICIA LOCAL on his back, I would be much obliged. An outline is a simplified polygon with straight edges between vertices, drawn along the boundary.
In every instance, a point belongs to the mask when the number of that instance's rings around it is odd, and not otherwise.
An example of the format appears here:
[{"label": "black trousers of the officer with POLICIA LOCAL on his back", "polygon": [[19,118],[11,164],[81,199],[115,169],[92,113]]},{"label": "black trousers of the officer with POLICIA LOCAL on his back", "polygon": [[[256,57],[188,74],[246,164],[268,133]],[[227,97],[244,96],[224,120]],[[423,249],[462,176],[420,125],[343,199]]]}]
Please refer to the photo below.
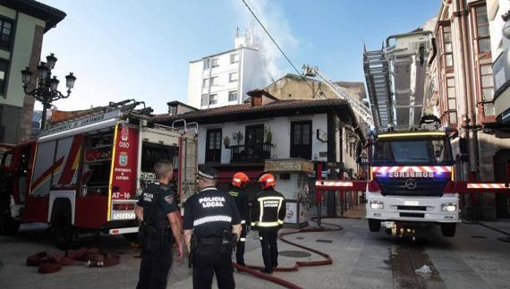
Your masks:
[{"label": "black trousers of the officer with POLICIA LOCAL on his back", "polygon": [[216,273],[219,289],[234,289],[232,250],[221,253],[221,241],[216,244],[198,244],[193,258],[193,289],[210,289]]}]

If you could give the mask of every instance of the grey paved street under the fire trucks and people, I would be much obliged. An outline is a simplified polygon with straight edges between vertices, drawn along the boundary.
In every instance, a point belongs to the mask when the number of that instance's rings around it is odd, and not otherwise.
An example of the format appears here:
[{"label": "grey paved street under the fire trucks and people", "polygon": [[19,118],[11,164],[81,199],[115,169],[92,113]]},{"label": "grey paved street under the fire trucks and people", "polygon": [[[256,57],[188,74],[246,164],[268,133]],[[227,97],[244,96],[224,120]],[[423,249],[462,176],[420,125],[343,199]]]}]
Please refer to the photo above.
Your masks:
[{"label": "grey paved street under the fire trucks and people", "polygon": [[[510,287],[510,243],[497,241],[505,234],[482,225],[462,224],[455,238],[443,238],[438,228],[419,232],[417,242],[395,240],[384,233],[370,234],[363,219],[327,219],[344,230],[302,233],[288,240],[326,251],[332,265],[276,272],[274,276],[303,288],[508,288]],[[510,233],[510,222],[484,223]],[[259,241],[249,235],[247,263],[262,265]],[[318,242],[319,240],[319,242]],[[134,288],[138,279],[139,251],[122,237],[104,236],[98,246],[122,256],[111,268],[64,267],[54,274],[38,274],[26,267],[28,255],[55,251],[44,225],[24,225],[17,238],[1,237],[0,288]],[[303,251],[279,242],[279,250]],[[283,253],[285,254],[285,252]],[[282,254],[282,255],[283,255]],[[296,258],[280,256],[282,267]],[[319,260],[319,255],[300,260]],[[428,265],[431,274],[415,274]],[[238,288],[282,288],[256,277],[235,273]],[[185,261],[174,263],[168,288],[191,288],[191,271]]]}]

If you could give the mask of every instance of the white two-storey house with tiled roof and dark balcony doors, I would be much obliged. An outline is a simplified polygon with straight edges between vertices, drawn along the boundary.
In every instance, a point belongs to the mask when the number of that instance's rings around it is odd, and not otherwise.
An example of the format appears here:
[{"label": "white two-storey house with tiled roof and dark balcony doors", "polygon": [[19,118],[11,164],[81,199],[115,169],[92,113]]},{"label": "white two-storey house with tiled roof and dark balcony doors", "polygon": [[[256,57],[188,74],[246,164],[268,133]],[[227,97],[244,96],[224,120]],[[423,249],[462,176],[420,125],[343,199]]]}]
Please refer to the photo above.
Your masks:
[{"label": "white two-storey house with tiled roof and dark balcony doors", "polygon": [[[249,95],[244,104],[157,115],[154,121],[199,123],[199,164],[214,166],[223,188],[241,171],[251,178],[250,193],[255,193],[266,159],[323,161],[333,166],[336,176],[340,171],[357,176],[355,145],[364,134],[344,100],[280,100],[264,89]],[[335,204],[335,193],[328,198]],[[329,209],[335,214],[333,205]]]}]

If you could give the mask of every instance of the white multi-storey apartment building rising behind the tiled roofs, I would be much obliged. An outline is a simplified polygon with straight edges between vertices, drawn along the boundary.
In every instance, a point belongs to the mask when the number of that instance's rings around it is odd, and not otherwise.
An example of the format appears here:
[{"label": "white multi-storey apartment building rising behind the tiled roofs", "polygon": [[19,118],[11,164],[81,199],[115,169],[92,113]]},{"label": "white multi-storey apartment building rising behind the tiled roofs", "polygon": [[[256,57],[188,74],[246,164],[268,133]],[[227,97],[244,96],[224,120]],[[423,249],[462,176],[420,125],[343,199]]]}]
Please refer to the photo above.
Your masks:
[{"label": "white multi-storey apartment building rising behind the tiled roofs", "polygon": [[242,104],[246,92],[267,84],[265,67],[253,32],[240,36],[238,30],[234,49],[190,62],[187,104],[200,109]]}]

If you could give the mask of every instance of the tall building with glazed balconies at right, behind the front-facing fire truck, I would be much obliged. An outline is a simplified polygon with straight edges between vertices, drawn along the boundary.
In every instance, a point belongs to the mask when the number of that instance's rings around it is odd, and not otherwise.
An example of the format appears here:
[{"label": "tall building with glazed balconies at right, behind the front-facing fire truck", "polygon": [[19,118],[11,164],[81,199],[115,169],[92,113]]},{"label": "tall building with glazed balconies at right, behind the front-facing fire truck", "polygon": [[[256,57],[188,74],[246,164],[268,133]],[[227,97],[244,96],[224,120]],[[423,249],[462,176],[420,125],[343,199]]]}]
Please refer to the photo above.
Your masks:
[{"label": "tall building with glazed balconies at right, behind the front-facing fire truck", "polygon": [[[501,31],[489,28],[485,0],[450,0],[440,5],[433,28],[437,55],[430,64],[424,106],[452,130],[457,178],[472,181],[506,181],[510,139],[497,122],[493,61]],[[496,49],[497,50],[497,49]],[[467,144],[463,155],[461,143]],[[464,198],[464,213],[471,217],[510,217],[508,197],[483,194]]]}]

